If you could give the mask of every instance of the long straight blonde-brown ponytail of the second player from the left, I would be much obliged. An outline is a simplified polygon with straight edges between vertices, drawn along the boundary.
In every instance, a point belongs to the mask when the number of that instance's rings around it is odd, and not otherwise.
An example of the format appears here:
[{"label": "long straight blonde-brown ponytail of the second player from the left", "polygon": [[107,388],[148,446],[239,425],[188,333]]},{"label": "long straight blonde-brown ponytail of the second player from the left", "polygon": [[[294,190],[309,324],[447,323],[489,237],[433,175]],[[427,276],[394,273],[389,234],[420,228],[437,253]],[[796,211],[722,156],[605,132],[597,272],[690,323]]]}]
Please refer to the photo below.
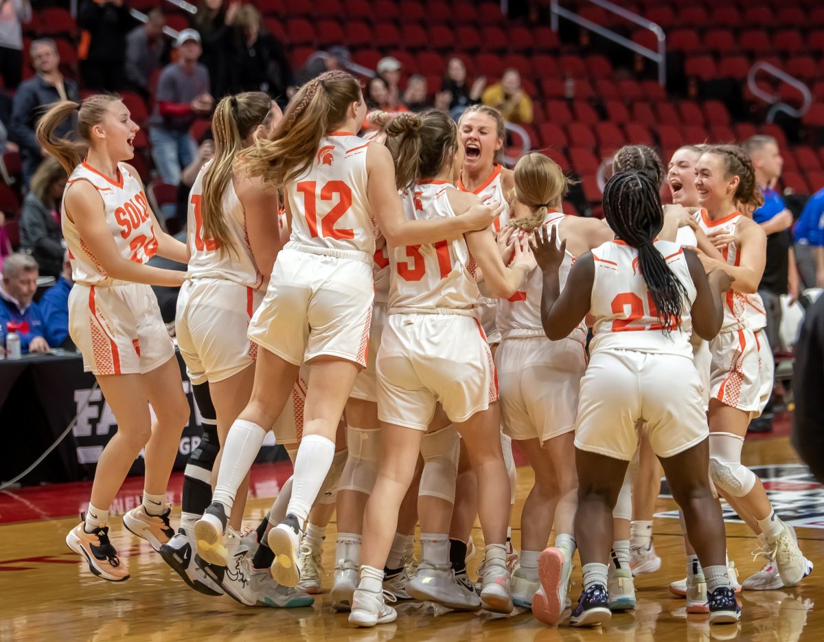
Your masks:
[{"label": "long straight blonde-brown ponytail of the second player from the left", "polygon": [[271,107],[272,101],[263,91],[246,91],[223,98],[214,110],[215,155],[203,179],[204,237],[218,241],[219,246],[231,251],[236,247],[223,218],[223,194],[232,180],[232,163],[237,153],[246,138],[264,121]]}]

